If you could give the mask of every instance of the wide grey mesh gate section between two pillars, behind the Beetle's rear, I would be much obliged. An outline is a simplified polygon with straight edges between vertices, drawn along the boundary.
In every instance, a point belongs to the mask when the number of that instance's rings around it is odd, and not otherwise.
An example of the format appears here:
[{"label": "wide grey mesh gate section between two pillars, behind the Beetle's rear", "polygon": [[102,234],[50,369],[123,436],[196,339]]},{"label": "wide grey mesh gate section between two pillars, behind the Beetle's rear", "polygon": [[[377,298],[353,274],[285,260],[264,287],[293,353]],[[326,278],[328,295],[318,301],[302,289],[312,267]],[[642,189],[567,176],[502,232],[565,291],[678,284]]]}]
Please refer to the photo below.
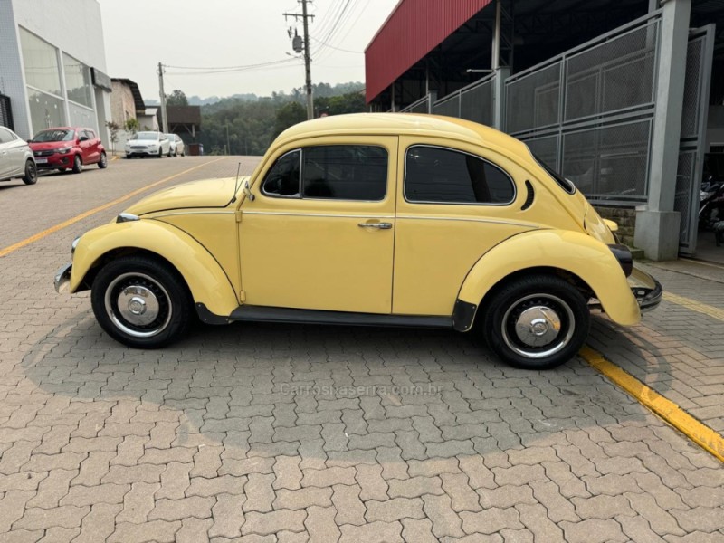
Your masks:
[{"label": "wide grey mesh gate section between two pillars, behind the Beetle's rear", "polygon": [[505,82],[506,131],[600,205],[648,196],[661,12]]}]

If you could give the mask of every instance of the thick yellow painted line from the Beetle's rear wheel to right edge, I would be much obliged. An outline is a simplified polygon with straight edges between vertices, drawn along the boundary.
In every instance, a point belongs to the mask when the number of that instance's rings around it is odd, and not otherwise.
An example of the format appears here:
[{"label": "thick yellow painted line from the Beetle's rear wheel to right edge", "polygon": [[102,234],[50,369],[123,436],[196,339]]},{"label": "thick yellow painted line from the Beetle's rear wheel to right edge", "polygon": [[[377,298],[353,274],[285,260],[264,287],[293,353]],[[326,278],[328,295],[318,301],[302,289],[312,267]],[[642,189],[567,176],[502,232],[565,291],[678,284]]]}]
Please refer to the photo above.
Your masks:
[{"label": "thick yellow painted line from the Beetle's rear wheel to right edge", "polygon": [[706,424],[700,423],[691,414],[686,413],[679,405],[667,400],[658,392],[645,386],[620,367],[612,364],[594,349],[584,347],[578,353],[586,362],[623,388],[641,404],[658,414],[665,422],[683,433],[692,442],[724,462],[724,437]]}]

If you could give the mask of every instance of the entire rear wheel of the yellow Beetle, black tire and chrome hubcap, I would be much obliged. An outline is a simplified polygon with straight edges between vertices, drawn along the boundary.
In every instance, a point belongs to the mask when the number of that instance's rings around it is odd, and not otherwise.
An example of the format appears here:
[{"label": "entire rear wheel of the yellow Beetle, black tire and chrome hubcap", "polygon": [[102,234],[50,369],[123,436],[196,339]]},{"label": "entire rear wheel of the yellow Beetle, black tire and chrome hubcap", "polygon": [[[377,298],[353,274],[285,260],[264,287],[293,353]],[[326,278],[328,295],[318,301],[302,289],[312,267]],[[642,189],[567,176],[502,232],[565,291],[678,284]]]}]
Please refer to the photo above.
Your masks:
[{"label": "entire rear wheel of the yellow Beetle, black tire and chrome hubcap", "polygon": [[560,366],[575,357],[588,338],[587,300],[557,276],[531,275],[510,281],[484,303],[483,335],[510,366]]}]

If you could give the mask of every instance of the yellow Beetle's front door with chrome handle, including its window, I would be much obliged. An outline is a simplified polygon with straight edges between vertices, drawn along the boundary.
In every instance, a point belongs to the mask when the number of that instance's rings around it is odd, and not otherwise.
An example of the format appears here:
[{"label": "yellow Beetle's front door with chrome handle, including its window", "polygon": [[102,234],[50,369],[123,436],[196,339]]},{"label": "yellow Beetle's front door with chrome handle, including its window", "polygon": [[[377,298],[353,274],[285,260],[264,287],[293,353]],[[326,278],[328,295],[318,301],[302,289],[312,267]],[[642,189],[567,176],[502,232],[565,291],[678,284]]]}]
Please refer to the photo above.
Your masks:
[{"label": "yellow Beetle's front door with chrome handle, including its window", "polygon": [[245,303],[390,313],[396,162],[396,137],[272,154],[241,207]]}]

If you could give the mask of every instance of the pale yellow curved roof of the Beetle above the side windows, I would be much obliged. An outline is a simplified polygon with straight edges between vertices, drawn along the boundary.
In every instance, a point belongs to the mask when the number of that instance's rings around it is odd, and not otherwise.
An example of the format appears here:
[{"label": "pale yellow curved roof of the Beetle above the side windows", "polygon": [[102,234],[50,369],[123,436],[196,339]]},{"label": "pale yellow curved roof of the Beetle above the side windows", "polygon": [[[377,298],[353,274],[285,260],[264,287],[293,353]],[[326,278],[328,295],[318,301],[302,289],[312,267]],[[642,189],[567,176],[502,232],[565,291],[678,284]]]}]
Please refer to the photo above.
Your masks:
[{"label": "pale yellow curved roof of the Beetle above the side windows", "polygon": [[470,120],[415,113],[351,113],[300,122],[281,132],[278,145],[298,138],[335,134],[418,135],[462,139],[483,147],[508,148],[528,155],[525,144]]}]

